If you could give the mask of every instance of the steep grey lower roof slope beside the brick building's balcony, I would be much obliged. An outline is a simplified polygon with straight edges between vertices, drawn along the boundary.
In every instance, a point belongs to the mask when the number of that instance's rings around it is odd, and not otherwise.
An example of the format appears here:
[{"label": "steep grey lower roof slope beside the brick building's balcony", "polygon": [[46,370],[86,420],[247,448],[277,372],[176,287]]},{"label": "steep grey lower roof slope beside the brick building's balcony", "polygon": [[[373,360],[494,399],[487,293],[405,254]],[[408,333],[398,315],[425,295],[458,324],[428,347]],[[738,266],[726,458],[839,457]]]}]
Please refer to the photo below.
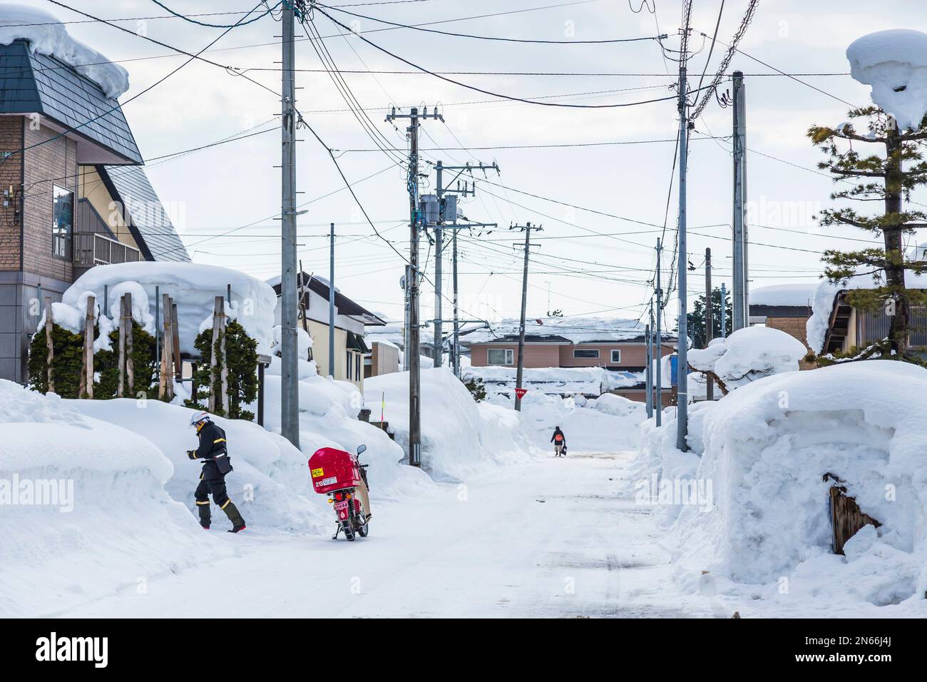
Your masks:
[{"label": "steep grey lower roof slope beside the brick building's balcony", "polygon": [[177,235],[145,170],[140,166],[106,166],[106,172],[155,260],[189,262],[184,242]]}]

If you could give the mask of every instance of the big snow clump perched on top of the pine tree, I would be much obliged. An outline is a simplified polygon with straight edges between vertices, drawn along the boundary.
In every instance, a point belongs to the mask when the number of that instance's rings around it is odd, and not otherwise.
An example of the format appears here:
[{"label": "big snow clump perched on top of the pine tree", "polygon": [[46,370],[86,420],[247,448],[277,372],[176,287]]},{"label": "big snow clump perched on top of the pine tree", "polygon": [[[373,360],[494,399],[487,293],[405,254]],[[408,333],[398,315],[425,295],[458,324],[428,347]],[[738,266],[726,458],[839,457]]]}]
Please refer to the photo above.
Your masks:
[{"label": "big snow clump perched on top of the pine tree", "polygon": [[898,127],[917,129],[927,113],[927,33],[894,29],[869,33],[846,48],[850,75],[872,86],[872,101]]}]

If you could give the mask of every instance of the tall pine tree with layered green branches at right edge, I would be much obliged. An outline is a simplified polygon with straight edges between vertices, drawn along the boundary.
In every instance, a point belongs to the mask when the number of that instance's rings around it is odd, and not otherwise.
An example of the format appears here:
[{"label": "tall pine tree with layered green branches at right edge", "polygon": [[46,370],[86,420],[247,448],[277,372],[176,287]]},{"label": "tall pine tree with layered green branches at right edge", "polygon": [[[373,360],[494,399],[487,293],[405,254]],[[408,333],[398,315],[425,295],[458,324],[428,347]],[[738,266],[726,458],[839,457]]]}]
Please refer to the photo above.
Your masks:
[{"label": "tall pine tree with layered green branches at right edge", "polygon": [[[895,119],[878,107],[864,107],[849,112],[851,122],[836,128],[813,125],[807,136],[827,157],[818,167],[834,175],[834,182],[857,178],[850,187],[831,194],[833,200],[859,202],[883,201],[883,212],[861,214],[853,208],[825,209],[819,213],[820,225],[853,225],[874,236],[882,236],[882,246],[857,251],[830,249],[822,260],[827,264],[824,276],[831,282],[843,282],[854,275],[871,275],[874,289],[853,290],[847,301],[859,310],[874,311],[884,307],[891,326],[881,355],[908,358],[910,308],[927,302],[923,290],[905,286],[905,272],[921,274],[927,262],[906,257],[902,238],[915,233],[910,225],[927,219],[922,211],[905,210],[911,191],[927,184],[927,162],[922,161],[921,145],[927,140],[927,117],[917,130],[899,131]],[[868,133],[856,131],[854,121],[862,123]],[[884,156],[862,153],[854,147],[879,145]],[[908,168],[905,168],[908,163]]]}]

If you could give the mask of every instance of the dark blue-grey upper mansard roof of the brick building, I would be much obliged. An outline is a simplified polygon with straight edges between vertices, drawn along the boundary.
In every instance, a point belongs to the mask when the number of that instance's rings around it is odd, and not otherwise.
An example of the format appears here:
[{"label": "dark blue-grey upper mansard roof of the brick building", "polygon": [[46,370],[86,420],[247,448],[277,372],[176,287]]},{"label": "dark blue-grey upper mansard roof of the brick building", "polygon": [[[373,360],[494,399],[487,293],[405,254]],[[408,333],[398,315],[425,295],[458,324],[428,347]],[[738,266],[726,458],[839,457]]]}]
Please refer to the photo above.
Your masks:
[{"label": "dark blue-grey upper mansard roof of the brick building", "polygon": [[24,39],[0,45],[0,113],[39,113],[78,139],[79,163],[141,163],[119,102],[65,62],[33,53]]}]

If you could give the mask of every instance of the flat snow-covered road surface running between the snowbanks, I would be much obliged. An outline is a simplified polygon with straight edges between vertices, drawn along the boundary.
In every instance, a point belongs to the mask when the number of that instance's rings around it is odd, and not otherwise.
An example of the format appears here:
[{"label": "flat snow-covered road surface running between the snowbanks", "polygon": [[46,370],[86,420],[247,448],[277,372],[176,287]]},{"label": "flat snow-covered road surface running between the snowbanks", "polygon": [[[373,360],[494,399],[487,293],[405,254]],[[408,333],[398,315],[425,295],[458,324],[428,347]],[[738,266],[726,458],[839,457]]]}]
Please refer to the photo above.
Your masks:
[{"label": "flat snow-covered road surface running between the snowbanks", "polygon": [[353,543],[222,533],[235,557],[58,615],[730,617],[674,587],[629,457],[545,458],[383,502]]}]

